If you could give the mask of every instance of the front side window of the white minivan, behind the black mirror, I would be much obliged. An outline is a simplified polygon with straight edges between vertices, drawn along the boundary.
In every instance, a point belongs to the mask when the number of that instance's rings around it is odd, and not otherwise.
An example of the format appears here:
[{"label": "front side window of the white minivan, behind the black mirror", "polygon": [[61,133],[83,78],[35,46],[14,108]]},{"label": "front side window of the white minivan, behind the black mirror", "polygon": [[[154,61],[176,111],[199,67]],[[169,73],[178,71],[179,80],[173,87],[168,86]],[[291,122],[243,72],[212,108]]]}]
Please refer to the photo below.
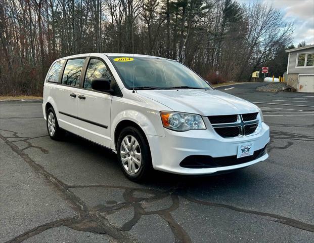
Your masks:
[{"label": "front side window of the white minivan, behind the black mirror", "polygon": [[107,78],[110,83],[113,79],[110,71],[103,61],[91,58],[86,69],[86,74],[84,78],[84,89],[92,89],[92,80],[94,78],[100,77]]}]

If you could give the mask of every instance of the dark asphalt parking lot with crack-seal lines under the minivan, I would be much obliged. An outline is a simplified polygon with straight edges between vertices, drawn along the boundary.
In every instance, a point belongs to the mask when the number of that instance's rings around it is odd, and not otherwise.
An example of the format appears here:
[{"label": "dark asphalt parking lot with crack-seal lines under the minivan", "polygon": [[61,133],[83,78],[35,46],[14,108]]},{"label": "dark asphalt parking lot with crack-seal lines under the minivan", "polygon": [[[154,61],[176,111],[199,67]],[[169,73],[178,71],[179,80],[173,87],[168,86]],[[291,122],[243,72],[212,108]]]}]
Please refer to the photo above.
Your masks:
[{"label": "dark asphalt parking lot with crack-seal lines under the minivan", "polygon": [[257,104],[270,157],[232,174],[127,180],[115,154],[49,138],[41,101],[0,102],[1,242],[313,242],[314,94],[219,88]]}]

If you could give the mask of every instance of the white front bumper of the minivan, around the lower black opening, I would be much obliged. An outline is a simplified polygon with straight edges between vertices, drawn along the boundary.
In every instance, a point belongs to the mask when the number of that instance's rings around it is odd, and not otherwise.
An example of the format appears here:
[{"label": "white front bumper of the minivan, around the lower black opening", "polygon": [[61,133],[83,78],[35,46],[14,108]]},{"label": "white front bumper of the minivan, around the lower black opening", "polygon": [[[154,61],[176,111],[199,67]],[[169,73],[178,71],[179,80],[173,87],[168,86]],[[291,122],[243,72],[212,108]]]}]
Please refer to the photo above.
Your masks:
[{"label": "white front bumper of the minivan, around the lower black opening", "polygon": [[234,156],[237,154],[240,144],[253,143],[254,151],[256,151],[264,148],[270,141],[270,129],[264,123],[259,124],[258,133],[237,138],[222,138],[211,126],[206,126],[206,130],[186,132],[165,129],[165,137],[149,135],[148,141],[151,148],[153,168],[181,175],[205,175],[244,168],[268,157],[267,152],[265,152],[262,156],[243,164],[197,169],[181,167],[181,161],[191,155]]}]

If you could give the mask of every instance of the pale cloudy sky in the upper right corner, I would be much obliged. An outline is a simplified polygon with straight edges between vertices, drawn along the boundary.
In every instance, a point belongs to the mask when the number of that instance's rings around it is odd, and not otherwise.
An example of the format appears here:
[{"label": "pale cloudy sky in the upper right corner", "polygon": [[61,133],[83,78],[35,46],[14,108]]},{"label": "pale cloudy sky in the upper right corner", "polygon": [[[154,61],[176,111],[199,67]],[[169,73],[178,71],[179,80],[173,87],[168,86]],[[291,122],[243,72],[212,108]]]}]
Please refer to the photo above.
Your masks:
[{"label": "pale cloudy sky in the upper right corner", "polygon": [[284,19],[294,23],[293,44],[314,44],[314,0],[238,0],[240,3],[264,2],[279,9]]}]

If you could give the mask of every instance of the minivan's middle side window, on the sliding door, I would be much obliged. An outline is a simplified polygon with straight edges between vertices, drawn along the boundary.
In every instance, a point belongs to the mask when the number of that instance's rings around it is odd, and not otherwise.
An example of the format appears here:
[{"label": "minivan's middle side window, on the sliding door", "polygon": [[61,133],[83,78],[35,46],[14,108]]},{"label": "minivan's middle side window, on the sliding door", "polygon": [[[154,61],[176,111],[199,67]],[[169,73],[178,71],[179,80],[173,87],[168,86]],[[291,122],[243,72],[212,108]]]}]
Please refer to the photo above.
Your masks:
[{"label": "minivan's middle side window, on the sliding door", "polygon": [[85,58],[68,60],[64,68],[61,84],[79,87],[84,61]]}]

